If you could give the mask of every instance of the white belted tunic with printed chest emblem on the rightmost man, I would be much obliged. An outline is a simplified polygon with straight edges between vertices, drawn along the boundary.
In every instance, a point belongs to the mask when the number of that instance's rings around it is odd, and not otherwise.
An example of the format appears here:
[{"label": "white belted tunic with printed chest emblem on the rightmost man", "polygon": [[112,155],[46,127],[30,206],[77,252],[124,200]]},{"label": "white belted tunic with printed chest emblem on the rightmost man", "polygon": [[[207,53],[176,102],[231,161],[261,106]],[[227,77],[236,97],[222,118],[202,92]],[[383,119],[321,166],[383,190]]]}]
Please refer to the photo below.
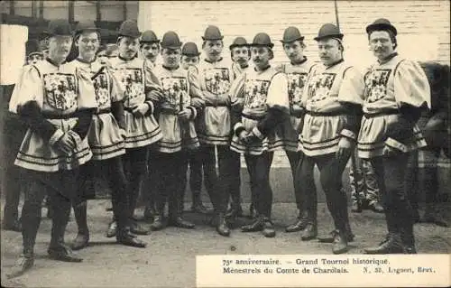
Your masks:
[{"label": "white belted tunic with printed chest emblem on the rightmost man", "polygon": [[358,155],[361,158],[382,156],[387,144],[402,152],[426,146],[418,125],[412,125],[412,137],[404,143],[389,138],[386,131],[396,125],[400,114],[386,113],[407,104],[430,107],[428,79],[418,63],[394,56],[390,60],[374,63],[365,73],[364,114],[358,138]]}]

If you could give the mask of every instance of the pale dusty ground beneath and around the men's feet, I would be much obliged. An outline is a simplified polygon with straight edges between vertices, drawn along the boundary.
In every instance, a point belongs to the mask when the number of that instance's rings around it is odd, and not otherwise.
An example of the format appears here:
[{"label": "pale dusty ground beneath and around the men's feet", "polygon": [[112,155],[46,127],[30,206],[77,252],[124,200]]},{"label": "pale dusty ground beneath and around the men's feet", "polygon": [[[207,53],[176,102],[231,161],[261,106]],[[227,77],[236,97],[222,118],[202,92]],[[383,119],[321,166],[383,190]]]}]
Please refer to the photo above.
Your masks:
[{"label": "pale dusty ground beneath and around the men's feet", "polygon": [[[78,252],[84,258],[80,264],[52,261],[46,249],[50,241],[51,221],[43,218],[36,243],[34,268],[22,277],[6,280],[5,274],[21,252],[21,234],[2,231],[2,286],[6,287],[194,287],[196,283],[196,255],[231,254],[331,254],[331,247],[316,241],[301,242],[298,233],[285,233],[283,228],[297,214],[294,204],[274,204],[273,219],[277,229],[275,238],[259,233],[245,234],[235,229],[231,237],[220,237],[206,224],[207,217],[185,213],[197,228],[184,230],[167,228],[142,237],[149,243],[145,249],[116,245],[104,233],[111,218],[105,209],[108,200],[88,203],[88,224],[91,245]],[[3,206],[3,203],[2,203]],[[189,204],[186,206],[189,207]],[[244,205],[247,208],[247,205]],[[449,218],[449,205],[442,209]],[[45,215],[45,209],[43,209]],[[365,210],[351,214],[356,235],[349,254],[360,254],[365,246],[377,244],[385,235],[383,215]],[[332,219],[324,204],[318,209],[319,234],[332,228]],[[242,218],[242,221],[249,221]],[[69,223],[67,241],[75,237],[75,221]],[[431,224],[415,226],[419,253],[451,252],[451,229]]]}]

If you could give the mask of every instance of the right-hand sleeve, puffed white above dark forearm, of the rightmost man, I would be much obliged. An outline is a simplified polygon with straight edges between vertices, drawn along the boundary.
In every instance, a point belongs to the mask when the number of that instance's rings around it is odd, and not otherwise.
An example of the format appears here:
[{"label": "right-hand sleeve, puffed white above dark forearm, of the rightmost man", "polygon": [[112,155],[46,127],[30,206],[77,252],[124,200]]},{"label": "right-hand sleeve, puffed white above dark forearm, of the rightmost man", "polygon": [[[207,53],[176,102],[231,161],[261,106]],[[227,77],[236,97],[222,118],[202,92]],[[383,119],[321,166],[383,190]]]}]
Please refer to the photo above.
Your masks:
[{"label": "right-hand sleeve, puffed white above dark forearm, of the rightmost man", "polygon": [[400,107],[398,121],[387,128],[386,144],[404,150],[405,140],[413,136],[413,126],[423,109],[430,109],[430,86],[425,72],[418,63],[400,62],[394,75],[394,97]]}]

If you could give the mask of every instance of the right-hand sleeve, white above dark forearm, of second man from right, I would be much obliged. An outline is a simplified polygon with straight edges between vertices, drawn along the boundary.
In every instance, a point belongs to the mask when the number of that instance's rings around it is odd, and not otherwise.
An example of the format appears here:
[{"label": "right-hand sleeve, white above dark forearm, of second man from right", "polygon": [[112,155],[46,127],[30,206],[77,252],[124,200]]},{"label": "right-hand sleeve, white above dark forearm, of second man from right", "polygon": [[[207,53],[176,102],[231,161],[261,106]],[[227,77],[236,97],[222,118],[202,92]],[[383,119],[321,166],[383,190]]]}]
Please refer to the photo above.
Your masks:
[{"label": "right-hand sleeve, white above dark forearm, of second man from right", "polygon": [[354,67],[345,70],[342,85],[338,91],[338,102],[345,108],[346,116],[340,135],[356,140],[363,116],[364,77]]}]

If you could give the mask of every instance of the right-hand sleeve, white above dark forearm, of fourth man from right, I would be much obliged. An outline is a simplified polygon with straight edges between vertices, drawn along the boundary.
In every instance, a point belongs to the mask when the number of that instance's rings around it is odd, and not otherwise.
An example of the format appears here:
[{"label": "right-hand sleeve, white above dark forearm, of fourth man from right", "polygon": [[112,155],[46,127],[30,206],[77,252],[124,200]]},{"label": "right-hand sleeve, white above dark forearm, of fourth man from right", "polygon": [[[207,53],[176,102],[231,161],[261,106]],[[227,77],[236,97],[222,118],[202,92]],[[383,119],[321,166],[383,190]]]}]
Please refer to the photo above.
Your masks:
[{"label": "right-hand sleeve, white above dark forearm, of fourth man from right", "polygon": [[268,112],[253,127],[253,135],[263,139],[276,125],[280,124],[285,116],[290,116],[290,104],[288,98],[288,79],[283,73],[277,73],[272,77],[266,98]]}]

